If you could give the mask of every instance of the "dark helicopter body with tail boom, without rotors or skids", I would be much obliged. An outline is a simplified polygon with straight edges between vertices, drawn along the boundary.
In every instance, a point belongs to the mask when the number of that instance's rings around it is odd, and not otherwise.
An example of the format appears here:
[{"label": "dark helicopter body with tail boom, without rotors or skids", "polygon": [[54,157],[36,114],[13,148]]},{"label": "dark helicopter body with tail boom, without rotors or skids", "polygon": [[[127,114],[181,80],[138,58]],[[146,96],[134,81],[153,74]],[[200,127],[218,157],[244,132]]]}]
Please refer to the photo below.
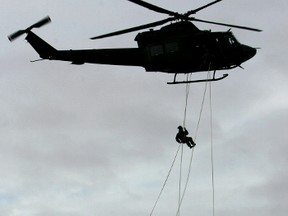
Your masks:
[{"label": "dark helicopter body with tail boom, without rotors or skids", "polygon": [[141,66],[165,73],[227,70],[256,54],[256,49],[240,44],[230,31],[201,31],[184,21],[139,33],[135,38],[138,48],[56,50],[33,32],[26,40],[43,59]]}]

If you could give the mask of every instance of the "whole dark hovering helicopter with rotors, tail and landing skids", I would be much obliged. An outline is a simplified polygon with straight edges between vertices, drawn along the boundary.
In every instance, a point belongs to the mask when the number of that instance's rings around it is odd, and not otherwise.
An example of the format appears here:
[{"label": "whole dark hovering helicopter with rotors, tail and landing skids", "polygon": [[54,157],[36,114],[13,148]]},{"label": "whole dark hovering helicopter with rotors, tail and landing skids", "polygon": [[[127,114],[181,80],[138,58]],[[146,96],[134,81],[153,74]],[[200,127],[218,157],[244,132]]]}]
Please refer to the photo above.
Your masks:
[{"label": "whole dark hovering helicopter with rotors, tail and landing skids", "polygon": [[[225,24],[197,19],[191,15],[210,7],[222,0],[216,0],[202,7],[180,14],[143,0],[128,0],[154,12],[168,15],[168,18],[92,37],[92,40],[112,37],[130,32],[149,29],[136,35],[138,48],[117,49],[86,49],[57,50],[32,32],[51,22],[49,16],[8,36],[12,42],[19,36],[27,34],[26,40],[39,54],[39,60],[69,61],[72,64],[84,63],[125,65],[144,67],[147,72],[163,72],[174,74],[172,82],[167,84],[182,84],[195,82],[210,82],[222,80],[228,76],[215,77],[218,70],[229,70],[241,67],[241,64],[256,54],[256,48],[241,44],[233,35],[231,29],[225,32],[200,30],[193,22],[203,22],[231,28],[240,28],[260,32],[261,30],[246,26]],[[168,25],[164,25],[170,23]],[[153,27],[162,26],[158,30]],[[177,81],[178,74],[189,74],[204,71],[214,71],[213,78]]]}]

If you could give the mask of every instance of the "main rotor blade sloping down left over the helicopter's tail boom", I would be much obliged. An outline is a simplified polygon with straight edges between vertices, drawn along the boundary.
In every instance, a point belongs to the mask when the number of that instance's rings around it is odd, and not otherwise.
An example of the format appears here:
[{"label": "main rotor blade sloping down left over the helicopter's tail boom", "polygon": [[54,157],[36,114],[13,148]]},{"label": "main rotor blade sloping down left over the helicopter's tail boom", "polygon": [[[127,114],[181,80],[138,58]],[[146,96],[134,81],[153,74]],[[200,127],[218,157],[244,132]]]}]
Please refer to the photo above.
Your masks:
[{"label": "main rotor blade sloping down left over the helicopter's tail boom", "polygon": [[167,22],[170,22],[172,20],[174,20],[174,19],[173,18],[167,18],[167,19],[160,20],[160,21],[157,21],[157,22],[148,23],[148,24],[136,26],[136,27],[133,27],[133,28],[128,28],[128,29],[124,29],[124,30],[120,30],[120,31],[116,31],[116,32],[112,32],[112,33],[108,33],[108,34],[92,37],[90,39],[95,40],[95,39],[100,39],[100,38],[106,38],[106,37],[112,37],[112,36],[116,36],[116,35],[126,34],[126,33],[130,33],[130,32],[133,32],[133,31],[139,31],[139,30],[142,30],[142,29],[163,25],[163,24],[165,24]]}]

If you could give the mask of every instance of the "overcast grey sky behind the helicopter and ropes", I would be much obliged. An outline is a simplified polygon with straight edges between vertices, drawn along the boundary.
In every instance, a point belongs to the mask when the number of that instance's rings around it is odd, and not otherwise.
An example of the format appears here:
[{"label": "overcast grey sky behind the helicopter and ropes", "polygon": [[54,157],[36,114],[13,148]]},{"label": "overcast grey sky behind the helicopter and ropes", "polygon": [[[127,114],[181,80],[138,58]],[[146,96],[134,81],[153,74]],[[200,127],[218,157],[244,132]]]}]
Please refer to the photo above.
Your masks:
[{"label": "overcast grey sky behind the helicopter and ropes", "polygon": [[[186,12],[209,1],[149,2]],[[216,215],[287,215],[287,9],[286,0],[224,0],[197,14],[264,30],[232,29],[261,49],[212,84]],[[49,15],[34,32],[56,48],[136,47],[137,33],[89,38],[166,16],[125,0],[2,0],[0,12],[0,215],[149,215],[178,147],[185,86],[138,67],[30,63],[38,55],[24,37],[11,44],[7,35]],[[193,136],[203,90],[191,85]],[[181,213],[210,216],[208,97],[196,142]],[[189,157],[184,147],[185,167]],[[176,214],[178,178],[179,158],[154,215]]]}]

